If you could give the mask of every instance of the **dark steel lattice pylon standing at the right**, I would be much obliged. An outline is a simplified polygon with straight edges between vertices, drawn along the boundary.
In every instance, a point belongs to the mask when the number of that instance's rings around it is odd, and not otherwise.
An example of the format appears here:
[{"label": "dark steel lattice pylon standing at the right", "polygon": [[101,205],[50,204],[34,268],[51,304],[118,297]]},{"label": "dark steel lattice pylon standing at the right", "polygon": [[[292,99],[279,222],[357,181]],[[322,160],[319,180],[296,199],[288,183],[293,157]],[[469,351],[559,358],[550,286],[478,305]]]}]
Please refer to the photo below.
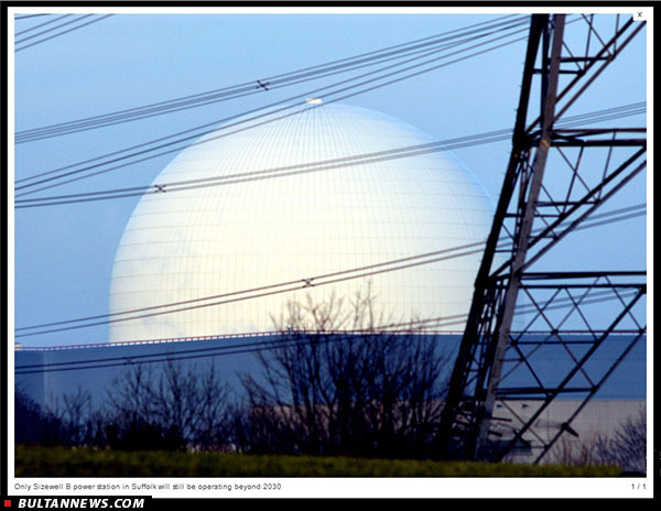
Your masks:
[{"label": "dark steel lattice pylon standing at the right", "polygon": [[[587,116],[563,122],[644,22],[617,17],[606,35],[594,17],[574,18],[572,29],[582,24],[585,34],[574,46],[568,24],[560,14],[531,18],[511,156],[443,411],[442,457],[500,460],[525,435],[540,461],[563,433],[576,435],[572,421],[646,334],[644,271],[588,269],[589,254],[572,271],[557,264],[566,238],[607,216],[594,213],[646,168],[644,128],[597,128]],[[543,270],[531,271],[541,262]],[[514,331],[521,308],[530,317]],[[570,330],[570,318],[581,328]],[[595,354],[616,338],[595,373]],[[563,354],[562,368],[537,367],[544,350]],[[508,385],[512,371],[529,384]],[[560,395],[577,396],[575,410],[544,438],[535,427]],[[512,406],[521,400],[534,403],[524,415]],[[514,420],[506,423],[497,406]]]}]

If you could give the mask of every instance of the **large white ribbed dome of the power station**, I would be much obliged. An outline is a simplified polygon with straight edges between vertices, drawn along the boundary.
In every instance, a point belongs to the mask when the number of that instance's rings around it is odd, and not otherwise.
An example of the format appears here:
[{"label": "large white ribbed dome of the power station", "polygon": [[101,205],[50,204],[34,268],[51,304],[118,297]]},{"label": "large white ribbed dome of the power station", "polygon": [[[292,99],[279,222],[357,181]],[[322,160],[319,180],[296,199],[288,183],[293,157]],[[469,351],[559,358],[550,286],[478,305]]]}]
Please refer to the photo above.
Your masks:
[{"label": "large white ribbed dome of the power station", "polygon": [[[382,113],[313,101],[294,116],[218,137],[224,133],[184,150],[154,184],[432,141]],[[316,275],[484,241],[492,211],[484,187],[448,152],[183,192],[165,187],[144,195],[129,220],[115,260],[110,313],[297,283],[285,286],[292,287]],[[303,303],[307,294],[322,301],[332,292],[350,300],[367,281],[379,309],[397,319],[467,314],[479,261],[478,253],[208,307],[192,302],[183,307],[196,308],[111,323],[110,340],[273,330],[271,316],[280,316],[288,301]]]}]

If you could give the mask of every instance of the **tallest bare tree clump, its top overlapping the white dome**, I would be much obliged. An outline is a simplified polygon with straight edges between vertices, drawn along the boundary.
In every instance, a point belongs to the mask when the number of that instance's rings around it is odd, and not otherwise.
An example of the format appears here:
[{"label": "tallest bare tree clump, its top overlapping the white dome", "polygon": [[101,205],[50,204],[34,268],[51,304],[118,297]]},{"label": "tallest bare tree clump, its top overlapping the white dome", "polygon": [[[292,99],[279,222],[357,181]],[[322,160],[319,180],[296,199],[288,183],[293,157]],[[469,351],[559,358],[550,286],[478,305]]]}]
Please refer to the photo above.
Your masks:
[{"label": "tallest bare tree clump, its top overlapping the white dome", "polygon": [[290,303],[281,338],[243,376],[247,450],[429,457],[448,352],[414,329],[389,331],[368,290],[348,307]]}]

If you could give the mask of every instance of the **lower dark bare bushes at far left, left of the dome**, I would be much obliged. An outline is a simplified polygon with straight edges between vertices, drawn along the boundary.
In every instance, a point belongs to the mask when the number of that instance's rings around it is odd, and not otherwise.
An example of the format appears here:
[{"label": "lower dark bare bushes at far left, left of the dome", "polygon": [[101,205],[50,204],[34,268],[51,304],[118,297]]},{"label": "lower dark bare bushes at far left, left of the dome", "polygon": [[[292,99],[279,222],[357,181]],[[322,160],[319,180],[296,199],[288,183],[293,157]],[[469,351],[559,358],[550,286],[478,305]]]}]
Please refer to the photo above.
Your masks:
[{"label": "lower dark bare bushes at far left, left of the dome", "polygon": [[216,369],[169,361],[155,373],[137,365],[116,378],[105,403],[85,390],[45,409],[15,395],[15,442],[123,450],[220,449],[229,413],[228,390]]}]

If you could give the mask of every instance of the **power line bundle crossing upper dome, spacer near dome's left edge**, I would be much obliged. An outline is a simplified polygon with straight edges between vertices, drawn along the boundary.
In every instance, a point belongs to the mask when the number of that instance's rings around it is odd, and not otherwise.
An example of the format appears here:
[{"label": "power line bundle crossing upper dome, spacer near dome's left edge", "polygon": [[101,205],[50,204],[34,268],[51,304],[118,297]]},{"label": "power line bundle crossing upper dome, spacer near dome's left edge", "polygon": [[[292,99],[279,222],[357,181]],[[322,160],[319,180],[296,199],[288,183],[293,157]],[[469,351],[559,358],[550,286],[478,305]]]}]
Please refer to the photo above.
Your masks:
[{"label": "power line bundle crossing upper dome, spacer near dome's left edge", "polygon": [[[564,121],[559,122],[557,126],[570,126],[581,120],[585,122],[589,120],[592,122],[600,122],[602,119],[614,119],[638,115],[644,111],[644,102],[637,102],[629,106],[615,107],[605,110],[599,110],[590,113],[582,113],[575,117],[568,117]],[[342,168],[349,165],[377,163],[400,157],[411,157],[423,155],[437,151],[446,151],[466,146],[474,146],[484,143],[491,143],[507,140],[511,137],[511,130],[502,129],[485,133],[478,133],[474,135],[459,137],[455,139],[447,139],[438,142],[431,142],[426,144],[409,145],[404,148],[398,148],[387,151],[379,151],[372,153],[364,153],[353,156],[345,156],[340,159],[333,159],[319,162],[311,162],[299,165],[288,165],[275,168],[259,170],[252,172],[246,172],[234,175],[224,175],[217,177],[207,177],[199,180],[187,180],[171,183],[161,183],[154,185],[142,185],[127,188],[113,188],[109,191],[98,192],[86,192],[79,194],[58,195],[51,197],[37,197],[32,199],[17,199],[14,207],[17,209],[42,207],[42,206],[56,206],[76,203],[87,203],[96,200],[107,200],[115,198],[126,198],[141,196],[145,193],[161,193],[165,189],[167,192],[187,191],[207,186],[218,186],[245,183],[248,181],[257,181],[263,178],[284,177],[299,174],[306,174],[311,172],[327,171],[333,168]]]}]

